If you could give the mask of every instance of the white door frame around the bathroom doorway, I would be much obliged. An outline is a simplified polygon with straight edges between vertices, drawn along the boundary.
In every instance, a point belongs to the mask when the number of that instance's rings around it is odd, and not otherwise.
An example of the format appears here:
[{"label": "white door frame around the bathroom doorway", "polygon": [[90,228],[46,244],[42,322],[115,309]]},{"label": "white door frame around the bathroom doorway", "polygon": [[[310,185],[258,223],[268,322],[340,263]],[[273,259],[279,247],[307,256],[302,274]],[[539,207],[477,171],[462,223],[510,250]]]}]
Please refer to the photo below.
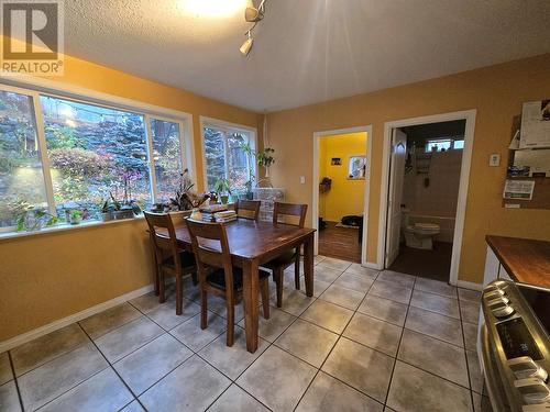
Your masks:
[{"label": "white door frame around the bathroom doorway", "polygon": [[474,129],[476,110],[464,110],[460,112],[441,113],[421,118],[396,120],[384,123],[384,147],[382,157],[382,187],[380,198],[380,226],[378,226],[378,250],[376,265],[383,269],[385,265],[386,224],[387,224],[387,197],[389,182],[389,154],[392,146],[392,130],[396,127],[415,126],[427,123],[449,122],[453,120],[465,120],[464,148],[462,151],[462,164],[460,168],[459,199],[457,204],[457,216],[454,222],[454,235],[452,244],[451,271],[449,282],[457,286],[459,282],[460,254],[462,249],[462,234],[464,231],[464,218],[466,212],[468,186],[470,180],[470,164],[472,162],[472,147],[474,144]]}]

